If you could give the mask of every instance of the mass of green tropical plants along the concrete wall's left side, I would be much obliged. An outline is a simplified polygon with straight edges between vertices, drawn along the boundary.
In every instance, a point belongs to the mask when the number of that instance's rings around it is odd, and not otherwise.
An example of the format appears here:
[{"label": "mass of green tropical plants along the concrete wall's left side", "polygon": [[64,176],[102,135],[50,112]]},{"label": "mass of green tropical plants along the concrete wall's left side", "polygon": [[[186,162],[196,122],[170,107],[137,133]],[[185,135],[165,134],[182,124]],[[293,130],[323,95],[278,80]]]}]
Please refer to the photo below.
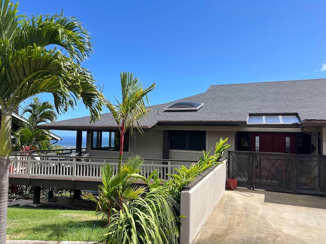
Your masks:
[{"label": "mass of green tropical plants along the concrete wall's left side", "polygon": [[[85,199],[96,202],[97,213],[108,219],[105,242],[178,243],[180,193],[204,170],[222,163],[223,152],[230,146],[227,140],[221,138],[216,142],[213,155],[203,151],[203,157],[191,167],[175,169],[167,182],[158,178],[157,170],[148,177],[142,175],[143,160],[139,156],[128,159],[116,175],[105,165],[99,196],[85,195]],[[133,185],[136,180],[142,180],[147,188]]]}]

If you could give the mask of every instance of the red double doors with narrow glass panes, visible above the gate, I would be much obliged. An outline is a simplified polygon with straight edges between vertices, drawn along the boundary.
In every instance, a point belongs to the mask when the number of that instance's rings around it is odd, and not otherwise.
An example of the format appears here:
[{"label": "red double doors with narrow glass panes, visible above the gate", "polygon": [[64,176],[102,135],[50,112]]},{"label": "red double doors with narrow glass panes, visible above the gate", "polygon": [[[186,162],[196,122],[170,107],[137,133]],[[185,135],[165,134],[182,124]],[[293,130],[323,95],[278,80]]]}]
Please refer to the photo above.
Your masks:
[{"label": "red double doors with narrow glass panes, visible above the gate", "polygon": [[252,134],[251,150],[294,154],[295,136],[291,134]]}]

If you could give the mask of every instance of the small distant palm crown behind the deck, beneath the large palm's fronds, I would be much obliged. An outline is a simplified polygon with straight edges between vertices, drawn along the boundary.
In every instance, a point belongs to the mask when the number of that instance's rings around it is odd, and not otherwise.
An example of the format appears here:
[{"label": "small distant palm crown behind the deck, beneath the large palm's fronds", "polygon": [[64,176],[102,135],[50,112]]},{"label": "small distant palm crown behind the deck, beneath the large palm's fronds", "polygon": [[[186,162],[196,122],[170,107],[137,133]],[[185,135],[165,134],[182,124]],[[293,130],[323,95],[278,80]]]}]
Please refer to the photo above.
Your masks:
[{"label": "small distant palm crown behind the deck, beneath the large palm's fronds", "polygon": [[48,101],[41,102],[38,97],[33,98],[33,102],[24,107],[21,116],[25,113],[29,113],[28,120],[32,128],[40,123],[54,122],[58,117],[55,107]]}]

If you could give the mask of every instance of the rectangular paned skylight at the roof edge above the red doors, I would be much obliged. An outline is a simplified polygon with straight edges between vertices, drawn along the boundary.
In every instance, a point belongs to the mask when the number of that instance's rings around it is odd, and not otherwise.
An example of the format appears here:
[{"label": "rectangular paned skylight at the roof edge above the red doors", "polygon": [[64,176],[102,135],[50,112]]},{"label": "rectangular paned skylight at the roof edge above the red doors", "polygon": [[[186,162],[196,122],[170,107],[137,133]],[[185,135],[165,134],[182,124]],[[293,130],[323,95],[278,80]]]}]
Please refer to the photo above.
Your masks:
[{"label": "rectangular paned skylight at the roof edge above the red doors", "polygon": [[298,114],[249,114],[247,124],[300,124]]}]

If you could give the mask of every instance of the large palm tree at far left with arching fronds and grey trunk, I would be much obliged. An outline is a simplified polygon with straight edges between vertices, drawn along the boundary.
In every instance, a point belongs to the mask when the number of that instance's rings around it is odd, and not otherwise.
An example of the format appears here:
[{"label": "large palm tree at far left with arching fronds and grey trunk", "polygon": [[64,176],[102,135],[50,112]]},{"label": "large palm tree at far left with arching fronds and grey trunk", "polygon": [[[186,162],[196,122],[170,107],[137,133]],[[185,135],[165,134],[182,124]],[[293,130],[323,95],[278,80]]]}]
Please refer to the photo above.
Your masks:
[{"label": "large palm tree at far left with arching fronds and grey trunk", "polygon": [[58,113],[82,100],[94,121],[103,95],[81,67],[93,49],[78,20],[63,13],[18,16],[18,5],[10,0],[0,0],[0,7],[0,243],[5,243],[14,108],[37,94],[50,93]]}]

